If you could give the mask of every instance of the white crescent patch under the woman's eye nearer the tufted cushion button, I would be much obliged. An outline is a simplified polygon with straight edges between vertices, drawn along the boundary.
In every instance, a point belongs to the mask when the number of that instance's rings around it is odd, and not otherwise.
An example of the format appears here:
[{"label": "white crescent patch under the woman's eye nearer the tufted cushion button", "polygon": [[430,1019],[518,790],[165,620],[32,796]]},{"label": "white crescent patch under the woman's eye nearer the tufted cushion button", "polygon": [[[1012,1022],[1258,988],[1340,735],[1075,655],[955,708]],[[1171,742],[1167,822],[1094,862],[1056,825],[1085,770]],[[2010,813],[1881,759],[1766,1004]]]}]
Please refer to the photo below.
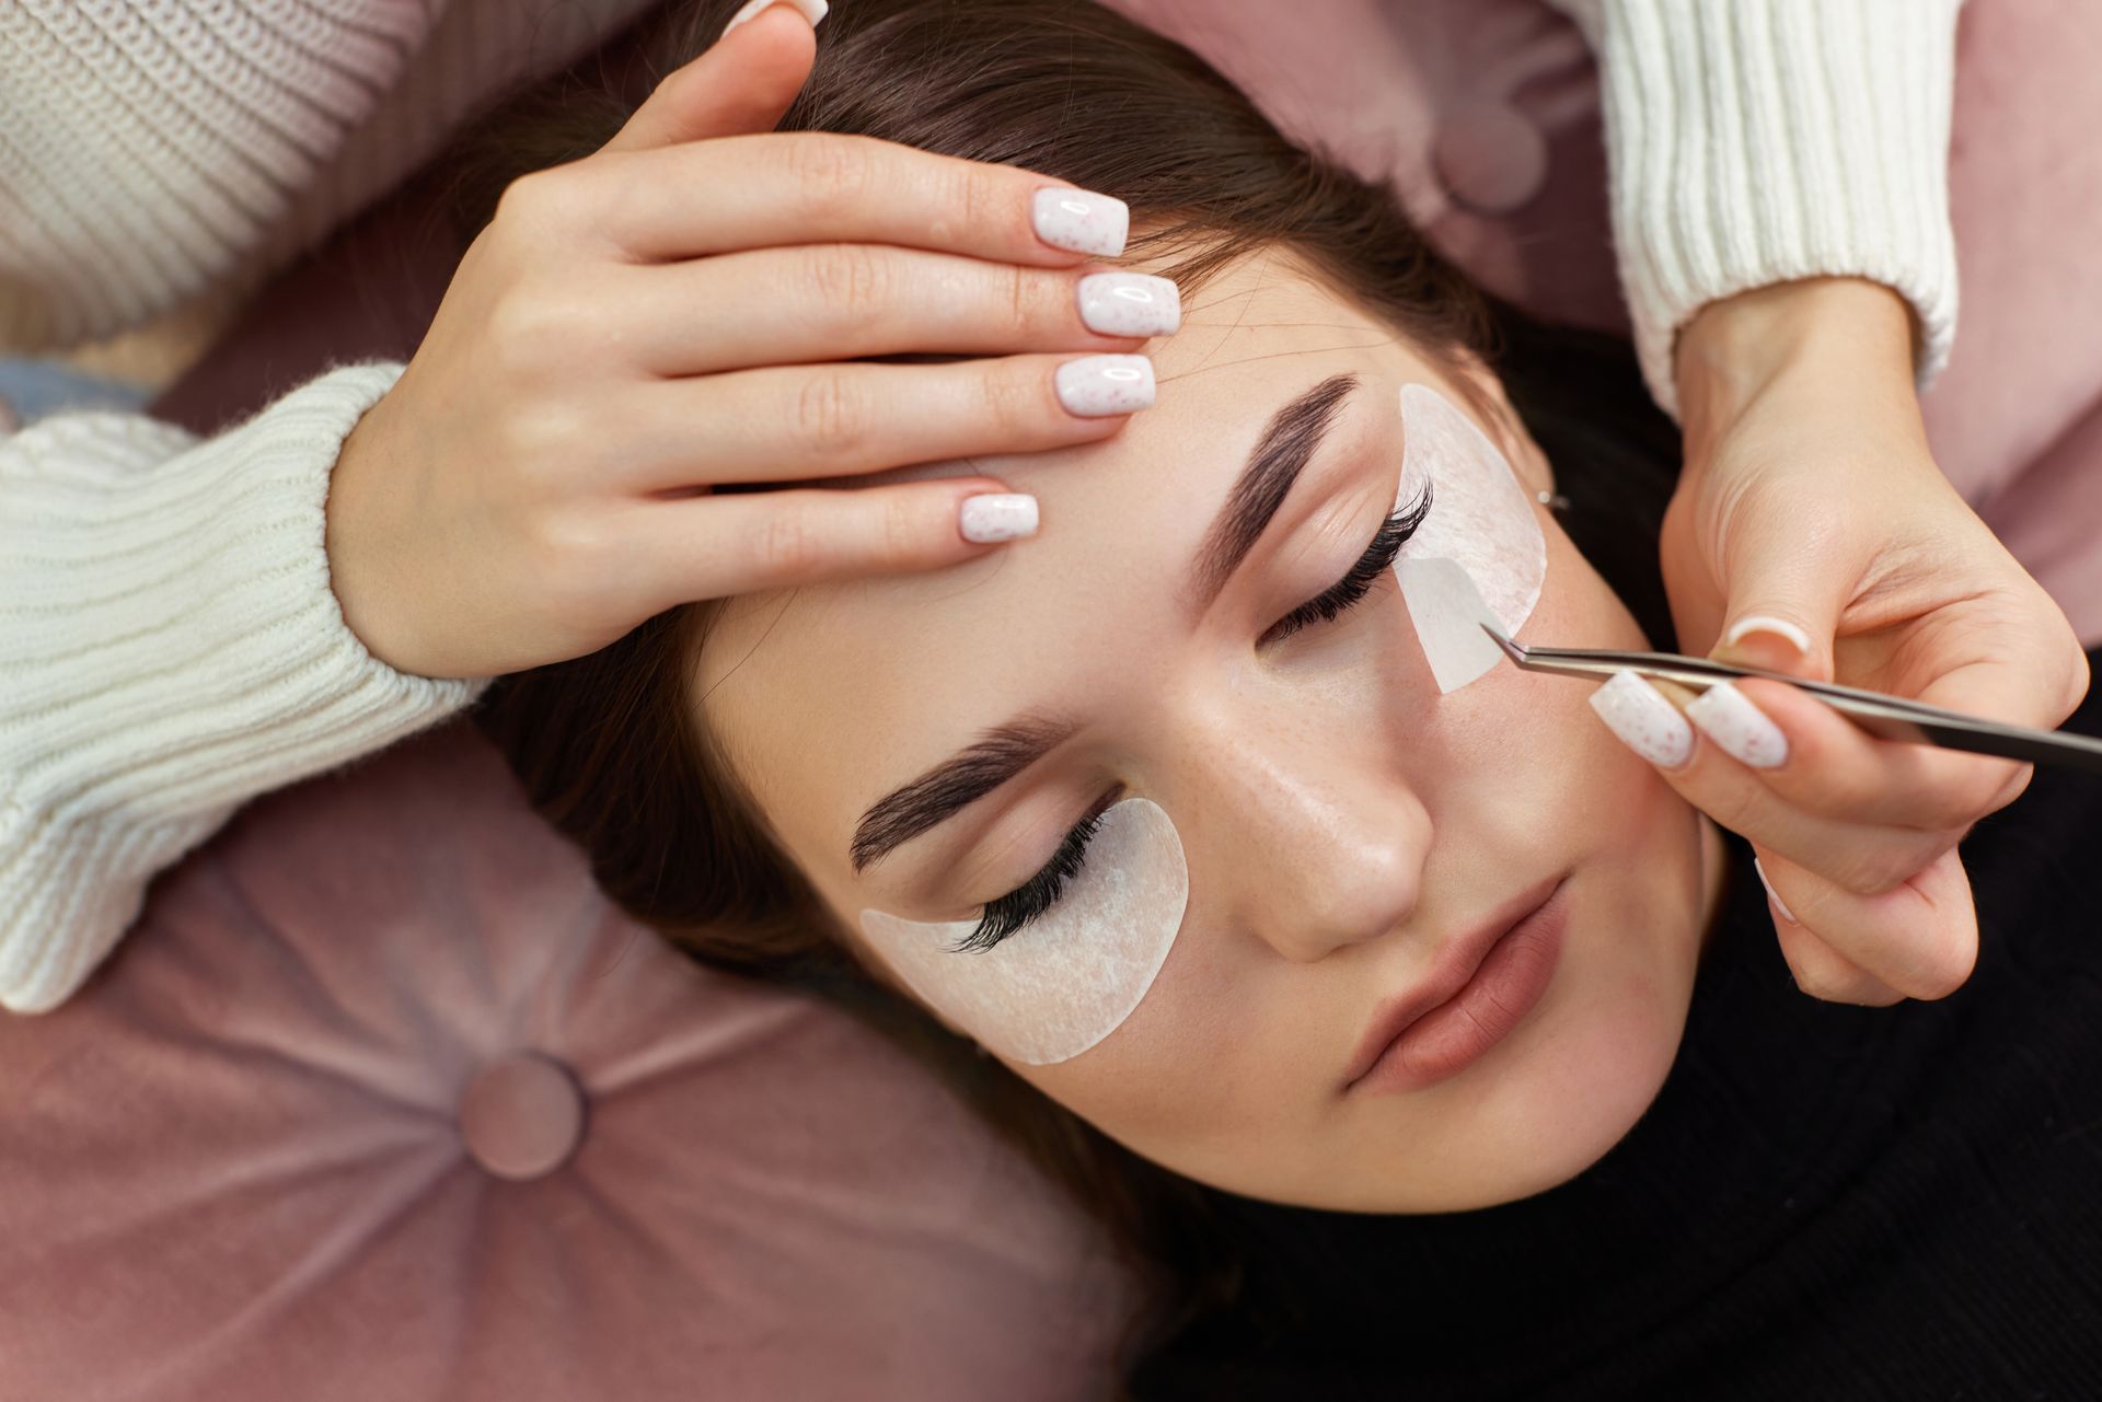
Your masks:
[{"label": "white crescent patch under the woman's eye nearer the tufted cushion button", "polygon": [[1139,1005],[1190,904],[1181,837],[1150,799],[1112,803],[1057,906],[990,950],[954,950],[977,921],[862,910],[862,933],[931,1009],[986,1051],[1047,1066],[1080,1055]]}]

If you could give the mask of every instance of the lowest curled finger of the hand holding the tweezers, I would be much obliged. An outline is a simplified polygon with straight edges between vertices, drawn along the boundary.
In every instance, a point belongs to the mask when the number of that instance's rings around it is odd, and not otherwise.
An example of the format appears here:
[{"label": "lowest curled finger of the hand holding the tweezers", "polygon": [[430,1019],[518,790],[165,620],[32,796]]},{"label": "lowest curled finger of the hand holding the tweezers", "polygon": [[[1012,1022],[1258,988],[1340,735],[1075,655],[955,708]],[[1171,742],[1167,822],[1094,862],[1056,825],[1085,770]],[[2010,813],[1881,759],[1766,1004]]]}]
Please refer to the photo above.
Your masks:
[{"label": "lowest curled finger of the hand holding the tweezers", "polygon": [[1759,868],[1770,904],[1778,906],[1782,954],[1797,984],[1814,996],[1835,1003],[1879,1001],[1888,992],[1946,998],[1978,965],[1978,908],[1955,851],[1881,895],[1841,891],[1768,851],[1759,851]]}]

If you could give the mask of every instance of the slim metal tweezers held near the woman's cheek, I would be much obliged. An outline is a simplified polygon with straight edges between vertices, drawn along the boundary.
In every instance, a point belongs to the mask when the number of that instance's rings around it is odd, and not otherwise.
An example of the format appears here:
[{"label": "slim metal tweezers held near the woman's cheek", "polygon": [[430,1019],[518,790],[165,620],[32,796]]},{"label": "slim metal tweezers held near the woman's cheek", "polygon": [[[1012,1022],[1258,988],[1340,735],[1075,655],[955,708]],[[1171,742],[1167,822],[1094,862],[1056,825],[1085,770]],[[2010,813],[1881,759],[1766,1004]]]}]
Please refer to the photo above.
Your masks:
[{"label": "slim metal tweezers held near the woman's cheek", "polygon": [[1904,744],[1938,744],[1946,750],[1974,750],[1978,755],[2001,755],[2003,759],[2026,759],[2037,765],[2073,765],[2089,774],[2102,774],[2102,740],[2070,736],[2058,729],[2031,729],[2028,725],[2003,725],[1961,710],[1942,710],[1925,702],[1883,696],[1841,687],[1829,681],[1804,681],[1785,673],[1770,673],[1764,666],[1732,666],[1707,658],[1686,658],[1675,652],[1610,652],[1600,647],[1528,647],[1513,643],[1499,628],[1482,622],[1482,631],[1497,639],[1505,656],[1528,673],[1553,673],[1560,677],[1589,677],[1604,681],[1619,671],[1635,671],[1644,677],[1663,677],[1682,687],[1705,692],[1717,681],[1736,677],[1770,677],[1787,681],[1791,687],[1810,692],[1833,710],[1860,725],[1871,736],[1902,740]]}]

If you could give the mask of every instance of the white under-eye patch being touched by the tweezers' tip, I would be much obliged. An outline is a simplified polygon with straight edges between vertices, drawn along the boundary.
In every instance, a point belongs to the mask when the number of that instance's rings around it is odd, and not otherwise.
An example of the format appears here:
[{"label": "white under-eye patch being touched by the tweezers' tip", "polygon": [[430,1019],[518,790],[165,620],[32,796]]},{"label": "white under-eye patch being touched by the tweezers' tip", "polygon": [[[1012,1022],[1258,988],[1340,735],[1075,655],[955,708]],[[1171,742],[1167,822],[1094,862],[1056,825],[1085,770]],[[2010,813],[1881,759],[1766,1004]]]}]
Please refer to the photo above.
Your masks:
[{"label": "white under-eye patch being touched by the tweezers' tip", "polygon": [[[1547,538],[1511,462],[1459,406],[1427,385],[1402,385],[1402,486],[1396,511],[1431,494],[1394,574],[1440,692],[1455,692],[1503,654],[1476,626],[1486,605],[1511,637],[1532,618],[1547,578]],[[1448,561],[1448,563],[1440,563]],[[1455,584],[1452,568],[1474,589]]]}]

